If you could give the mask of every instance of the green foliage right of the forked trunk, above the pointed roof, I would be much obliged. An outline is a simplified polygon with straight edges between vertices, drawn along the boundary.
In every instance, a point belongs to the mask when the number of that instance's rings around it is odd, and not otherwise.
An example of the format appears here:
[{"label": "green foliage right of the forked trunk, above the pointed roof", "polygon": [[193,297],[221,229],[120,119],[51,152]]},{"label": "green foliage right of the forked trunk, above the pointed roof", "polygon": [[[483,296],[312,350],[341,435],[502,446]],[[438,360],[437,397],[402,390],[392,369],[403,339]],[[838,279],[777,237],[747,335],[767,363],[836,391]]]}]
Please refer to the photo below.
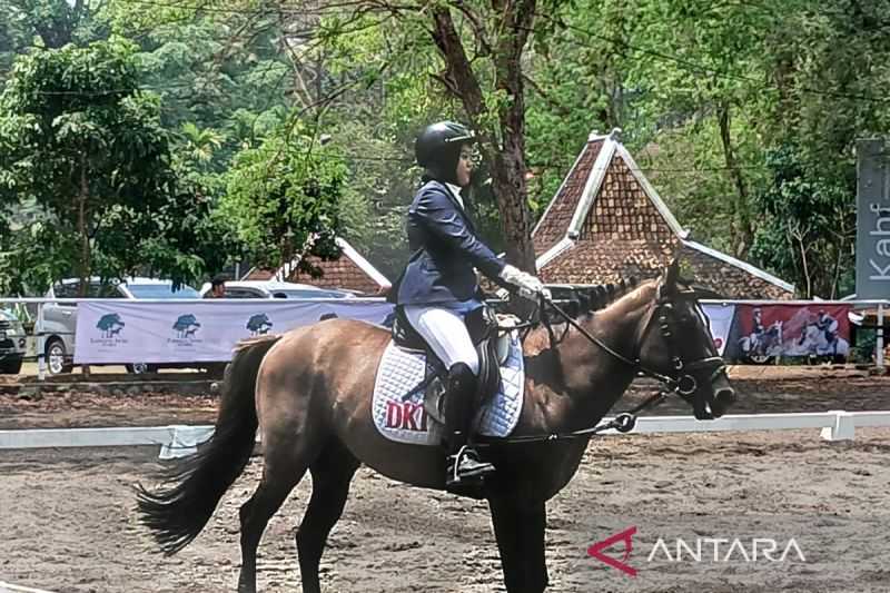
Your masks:
[{"label": "green foliage right of the forked trunk, above the pointed roof", "polygon": [[[620,127],[694,238],[802,294],[844,294],[853,142],[890,132],[889,10],[887,0],[562,7],[554,21],[565,27],[547,28],[531,75],[542,91],[530,100],[527,141],[538,211],[590,129]],[[790,231],[805,236],[808,274]]]}]

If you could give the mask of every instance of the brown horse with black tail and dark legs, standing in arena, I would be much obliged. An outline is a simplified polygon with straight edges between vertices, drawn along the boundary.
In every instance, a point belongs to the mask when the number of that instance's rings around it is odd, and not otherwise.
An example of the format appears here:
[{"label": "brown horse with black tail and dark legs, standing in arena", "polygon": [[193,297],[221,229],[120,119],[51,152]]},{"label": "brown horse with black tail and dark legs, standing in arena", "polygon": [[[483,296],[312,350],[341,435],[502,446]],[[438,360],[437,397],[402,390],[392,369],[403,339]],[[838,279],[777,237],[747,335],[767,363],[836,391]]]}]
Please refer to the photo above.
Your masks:
[{"label": "brown horse with black tail and dark legs, standing in arena", "polygon": [[[296,534],[304,593],[320,593],[322,554],[360,464],[444,490],[438,447],[388,441],[373,423],[370,396],[389,339],[378,326],[329,319],[240,344],[226,369],[212,437],[168,471],[166,490],[137,488],[141,522],[161,550],[175,554],[201,532],[246,467],[257,431],[263,475],[239,510],[239,593],[256,592],[263,532],[307,471],[313,493]],[[591,434],[584,428],[605,416],[640,372],[672,384],[701,419],[721,416],[734,391],[675,263],[602,310],[530,329],[523,356],[522,415],[508,438],[483,443],[496,471],[482,496],[507,592],[542,593],[546,502],[575,474]]]}]

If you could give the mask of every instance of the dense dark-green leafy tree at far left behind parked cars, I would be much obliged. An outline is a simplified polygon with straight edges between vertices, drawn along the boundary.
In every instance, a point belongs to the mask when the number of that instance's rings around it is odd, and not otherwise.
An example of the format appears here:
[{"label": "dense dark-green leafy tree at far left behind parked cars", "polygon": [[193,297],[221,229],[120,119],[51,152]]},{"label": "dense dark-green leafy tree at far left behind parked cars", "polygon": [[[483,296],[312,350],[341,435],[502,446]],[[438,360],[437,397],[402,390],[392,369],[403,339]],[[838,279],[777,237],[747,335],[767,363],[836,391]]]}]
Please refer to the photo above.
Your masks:
[{"label": "dense dark-green leafy tree at far left behind parked cars", "polygon": [[31,245],[53,263],[43,283],[60,270],[81,279],[151,270],[179,283],[219,257],[218,245],[202,245],[218,243],[202,235],[214,228],[209,208],[180,181],[159,100],[137,79],[132,46],[112,39],[19,58],[0,96],[0,199],[33,199],[65,238]]}]

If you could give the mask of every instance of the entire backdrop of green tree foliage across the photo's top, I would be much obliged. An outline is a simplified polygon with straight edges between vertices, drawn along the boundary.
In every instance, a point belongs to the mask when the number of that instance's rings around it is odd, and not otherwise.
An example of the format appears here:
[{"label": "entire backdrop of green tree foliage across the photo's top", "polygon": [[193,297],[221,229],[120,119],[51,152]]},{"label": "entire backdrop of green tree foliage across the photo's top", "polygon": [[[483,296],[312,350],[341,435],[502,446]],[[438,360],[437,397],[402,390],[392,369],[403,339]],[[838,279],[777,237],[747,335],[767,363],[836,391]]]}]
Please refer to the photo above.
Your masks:
[{"label": "entire backdrop of green tree foliage across the photo's top", "polygon": [[[496,4],[313,7],[0,0],[0,281],[82,270],[81,235],[97,273],[187,278],[221,268],[241,241],[280,263],[319,228],[396,274],[415,134],[474,119],[431,36],[434,9],[448,8],[479,85],[474,123],[491,138],[482,172],[520,134],[534,213],[587,134],[619,127],[696,240],[807,295],[849,287],[853,141],[890,132],[890,0],[541,0],[520,93],[498,53],[518,31]],[[520,100],[516,132],[503,122]],[[295,113],[332,141],[288,135]],[[315,175],[336,205],[314,205]],[[501,247],[492,187],[475,214]]]}]

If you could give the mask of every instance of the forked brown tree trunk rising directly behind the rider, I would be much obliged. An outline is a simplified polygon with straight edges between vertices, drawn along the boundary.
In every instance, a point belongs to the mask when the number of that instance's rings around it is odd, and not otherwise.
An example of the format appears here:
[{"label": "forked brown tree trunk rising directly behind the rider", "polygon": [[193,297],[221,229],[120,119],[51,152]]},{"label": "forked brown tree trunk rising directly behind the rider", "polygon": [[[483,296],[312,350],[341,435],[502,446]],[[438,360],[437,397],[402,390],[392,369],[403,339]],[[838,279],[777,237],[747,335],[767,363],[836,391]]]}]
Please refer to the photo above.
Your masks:
[{"label": "forked brown tree trunk rising directly behind the rider", "polygon": [[525,182],[525,100],[522,78],[522,52],[534,20],[535,0],[506,6],[494,0],[492,8],[503,21],[494,43],[495,88],[505,100],[498,102],[497,123],[492,120],[478,78],[447,7],[433,11],[433,40],[445,59],[442,82],[461,99],[474,128],[479,132],[482,150],[492,162],[492,189],[501,210],[501,227],[506,243],[506,257],[513,265],[534,274],[535,253],[532,244],[532,213]]}]

